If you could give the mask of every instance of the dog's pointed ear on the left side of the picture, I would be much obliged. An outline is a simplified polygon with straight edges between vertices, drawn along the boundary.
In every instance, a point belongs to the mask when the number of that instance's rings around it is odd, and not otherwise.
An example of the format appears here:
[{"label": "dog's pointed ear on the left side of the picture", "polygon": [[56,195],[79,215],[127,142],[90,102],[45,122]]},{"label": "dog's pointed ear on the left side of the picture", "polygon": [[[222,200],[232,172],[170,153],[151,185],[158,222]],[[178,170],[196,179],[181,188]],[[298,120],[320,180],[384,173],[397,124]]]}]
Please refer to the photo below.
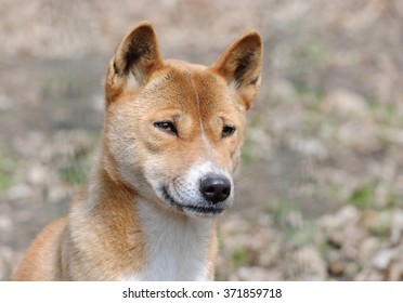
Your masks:
[{"label": "dog's pointed ear on the left side of the picture", "polygon": [[112,77],[108,79],[113,84],[115,76],[119,78],[134,76],[136,83],[143,85],[161,63],[153,25],[143,22],[131,28],[116,49],[109,66]]}]

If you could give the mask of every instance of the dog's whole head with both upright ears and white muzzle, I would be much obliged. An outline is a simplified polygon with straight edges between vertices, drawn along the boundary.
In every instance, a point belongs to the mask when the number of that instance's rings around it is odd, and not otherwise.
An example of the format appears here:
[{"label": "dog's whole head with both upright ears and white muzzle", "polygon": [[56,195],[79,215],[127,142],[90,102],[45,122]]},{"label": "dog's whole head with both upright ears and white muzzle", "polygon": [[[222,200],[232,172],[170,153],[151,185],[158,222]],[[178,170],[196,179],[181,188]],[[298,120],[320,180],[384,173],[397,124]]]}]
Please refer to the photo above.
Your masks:
[{"label": "dog's whole head with both upright ears and white muzzle", "polygon": [[130,30],[105,82],[108,173],[160,207],[222,213],[234,197],[261,56],[261,38],[249,32],[211,67],[162,61],[150,23]]}]

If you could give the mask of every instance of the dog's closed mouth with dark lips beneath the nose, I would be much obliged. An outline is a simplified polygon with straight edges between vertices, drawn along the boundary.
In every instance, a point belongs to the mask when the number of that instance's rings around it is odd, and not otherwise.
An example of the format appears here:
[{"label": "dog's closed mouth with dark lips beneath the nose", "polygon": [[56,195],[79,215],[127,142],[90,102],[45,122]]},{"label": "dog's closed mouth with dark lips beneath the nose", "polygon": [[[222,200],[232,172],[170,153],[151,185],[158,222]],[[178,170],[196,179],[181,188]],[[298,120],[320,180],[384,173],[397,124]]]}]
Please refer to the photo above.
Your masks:
[{"label": "dog's closed mouth with dark lips beneath the nose", "polygon": [[187,214],[193,214],[197,216],[216,216],[223,213],[225,210],[224,206],[221,205],[207,205],[200,203],[200,205],[183,205],[178,202],[168,192],[168,188],[166,186],[161,187],[161,193],[164,200],[168,202],[171,207],[179,210],[180,212],[184,212]]}]

